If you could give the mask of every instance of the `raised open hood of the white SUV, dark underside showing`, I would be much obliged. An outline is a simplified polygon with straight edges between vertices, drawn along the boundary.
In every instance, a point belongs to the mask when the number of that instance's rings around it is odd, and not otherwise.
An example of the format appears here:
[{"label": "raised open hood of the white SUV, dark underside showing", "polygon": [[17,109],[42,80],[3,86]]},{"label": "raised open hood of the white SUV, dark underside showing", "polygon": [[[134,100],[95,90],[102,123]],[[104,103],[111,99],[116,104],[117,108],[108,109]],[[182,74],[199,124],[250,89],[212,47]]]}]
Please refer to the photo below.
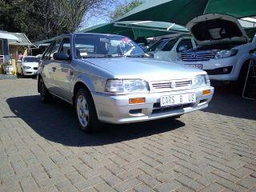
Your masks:
[{"label": "raised open hood of the white SUV, dark underside showing", "polygon": [[238,19],[223,14],[199,16],[188,22],[186,28],[190,30],[199,45],[249,40]]}]

